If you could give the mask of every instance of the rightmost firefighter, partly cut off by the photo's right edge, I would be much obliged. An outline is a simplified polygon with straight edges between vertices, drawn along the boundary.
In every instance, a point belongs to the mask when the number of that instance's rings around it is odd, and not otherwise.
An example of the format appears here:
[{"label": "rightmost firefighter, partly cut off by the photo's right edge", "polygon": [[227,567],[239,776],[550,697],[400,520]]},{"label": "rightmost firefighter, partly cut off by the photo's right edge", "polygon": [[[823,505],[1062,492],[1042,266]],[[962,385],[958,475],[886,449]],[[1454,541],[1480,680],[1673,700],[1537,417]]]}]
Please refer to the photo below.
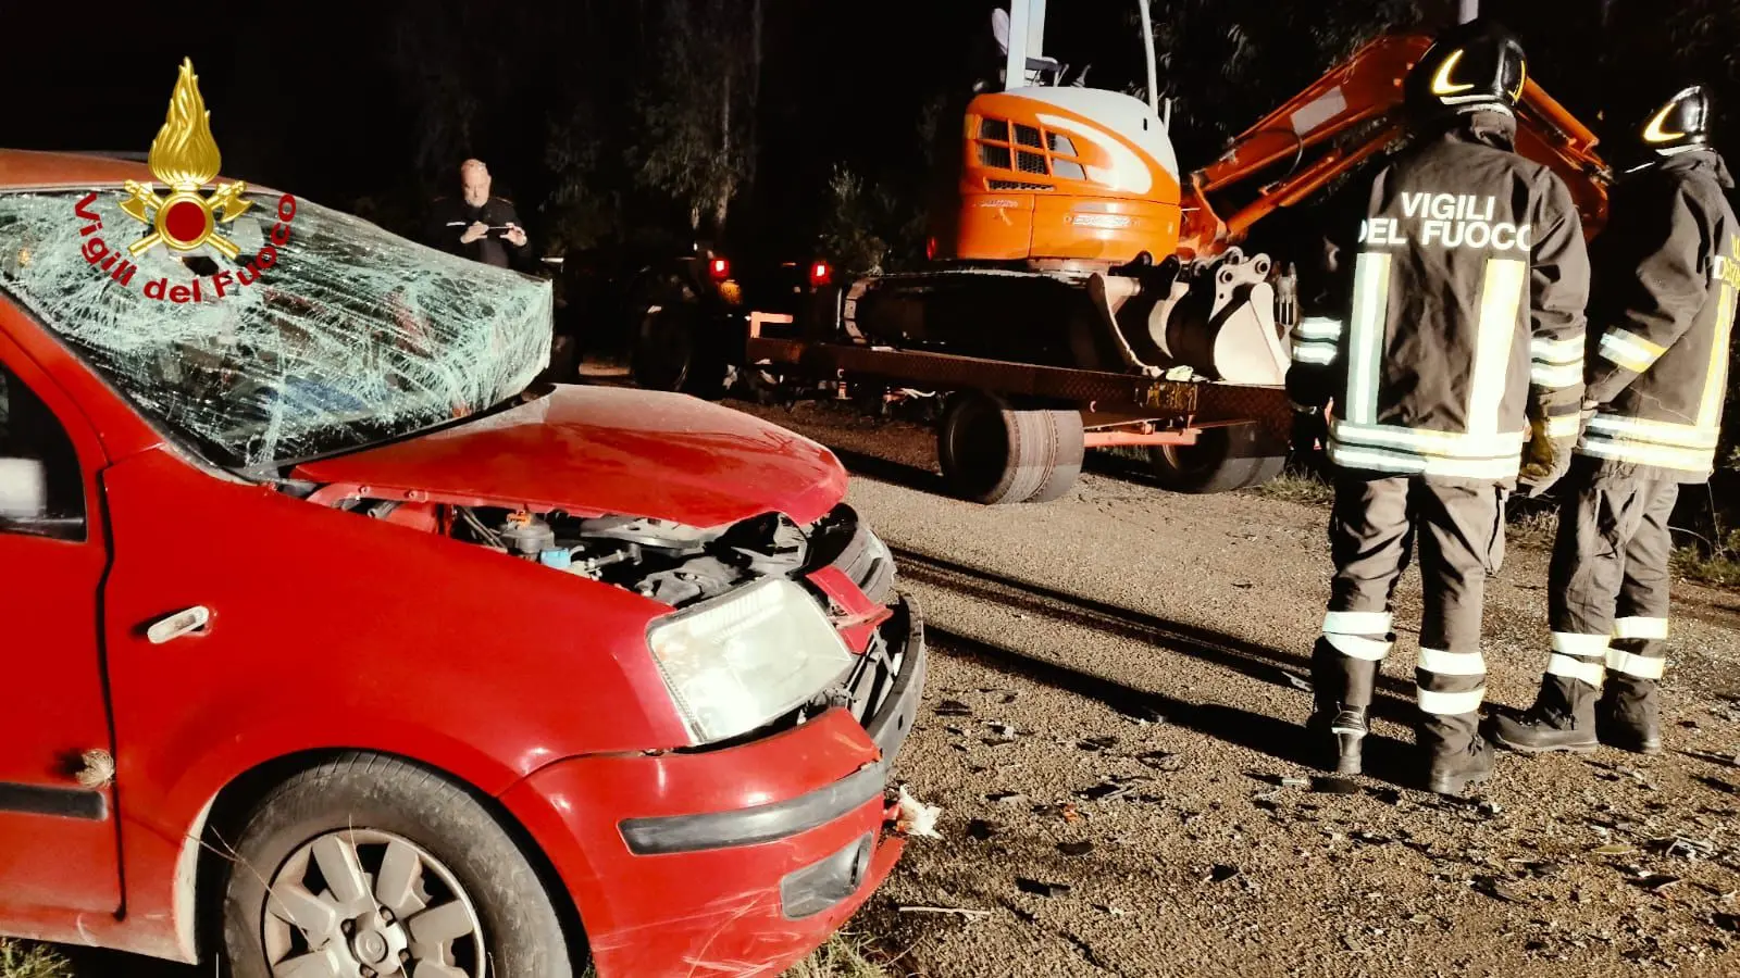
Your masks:
[{"label": "rightmost firefighter, partly cut off by the photo's right edge", "polygon": [[1735,183],[1709,129],[1702,85],[1651,106],[1632,134],[1648,164],[1615,188],[1596,244],[1590,414],[1559,508],[1552,653],[1535,707],[1493,724],[1516,750],[1662,750],[1667,517],[1716,461],[1740,291],[1723,195]]}]

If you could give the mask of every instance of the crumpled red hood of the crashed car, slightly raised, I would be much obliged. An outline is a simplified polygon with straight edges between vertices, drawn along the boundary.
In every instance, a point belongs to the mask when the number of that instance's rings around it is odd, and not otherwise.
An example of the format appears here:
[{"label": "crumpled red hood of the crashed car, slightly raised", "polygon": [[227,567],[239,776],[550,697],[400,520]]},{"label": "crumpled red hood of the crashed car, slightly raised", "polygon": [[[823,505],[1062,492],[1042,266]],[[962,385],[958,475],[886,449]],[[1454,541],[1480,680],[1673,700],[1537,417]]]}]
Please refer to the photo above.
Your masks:
[{"label": "crumpled red hood of the crashed car, slightly raised", "polygon": [[679,393],[557,386],[454,428],[296,466],[371,494],[715,527],[781,512],[813,522],[846,496],[833,452]]}]

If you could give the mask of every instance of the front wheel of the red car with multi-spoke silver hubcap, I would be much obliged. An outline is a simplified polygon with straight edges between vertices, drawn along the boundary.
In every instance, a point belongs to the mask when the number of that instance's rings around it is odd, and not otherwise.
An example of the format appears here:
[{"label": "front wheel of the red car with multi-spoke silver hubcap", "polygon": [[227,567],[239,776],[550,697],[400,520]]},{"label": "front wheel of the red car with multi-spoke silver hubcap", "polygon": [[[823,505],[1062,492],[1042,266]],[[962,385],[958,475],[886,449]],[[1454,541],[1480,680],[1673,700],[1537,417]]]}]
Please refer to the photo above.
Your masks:
[{"label": "front wheel of the red car with multi-spoke silver hubcap", "polygon": [[235,978],[282,978],[306,954],[338,973],[367,959],[378,975],[472,976],[487,962],[489,975],[574,978],[586,964],[541,874],[478,799],[372,754],[301,771],[254,806],[230,861],[223,941]]}]

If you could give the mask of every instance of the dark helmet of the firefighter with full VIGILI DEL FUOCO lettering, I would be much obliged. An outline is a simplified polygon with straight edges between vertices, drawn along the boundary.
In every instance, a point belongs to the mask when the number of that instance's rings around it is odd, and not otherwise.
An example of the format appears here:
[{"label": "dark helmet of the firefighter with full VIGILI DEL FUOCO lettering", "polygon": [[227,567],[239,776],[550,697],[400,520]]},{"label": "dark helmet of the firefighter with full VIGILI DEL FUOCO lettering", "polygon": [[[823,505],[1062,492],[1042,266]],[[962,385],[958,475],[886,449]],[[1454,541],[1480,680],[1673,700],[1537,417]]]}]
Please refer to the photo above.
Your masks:
[{"label": "dark helmet of the firefighter with full VIGILI DEL FUOCO lettering", "polygon": [[1522,42],[1493,21],[1472,21],[1439,35],[1408,73],[1415,111],[1441,113],[1516,106],[1528,80]]}]

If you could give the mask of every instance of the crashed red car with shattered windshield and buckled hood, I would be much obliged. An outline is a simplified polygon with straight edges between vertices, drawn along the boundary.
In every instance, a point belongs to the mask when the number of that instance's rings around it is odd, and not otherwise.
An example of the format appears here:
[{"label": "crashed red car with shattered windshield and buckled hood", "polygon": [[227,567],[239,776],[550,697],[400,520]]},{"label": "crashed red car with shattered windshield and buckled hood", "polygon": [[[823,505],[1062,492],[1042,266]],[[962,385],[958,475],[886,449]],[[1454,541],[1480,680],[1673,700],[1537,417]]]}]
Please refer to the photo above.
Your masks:
[{"label": "crashed red car with shattered windshield and buckled hood", "polygon": [[926,668],[839,461],[536,385],[545,282],[289,195],[171,249],[150,179],[0,151],[0,933],[247,978],[821,943]]}]

